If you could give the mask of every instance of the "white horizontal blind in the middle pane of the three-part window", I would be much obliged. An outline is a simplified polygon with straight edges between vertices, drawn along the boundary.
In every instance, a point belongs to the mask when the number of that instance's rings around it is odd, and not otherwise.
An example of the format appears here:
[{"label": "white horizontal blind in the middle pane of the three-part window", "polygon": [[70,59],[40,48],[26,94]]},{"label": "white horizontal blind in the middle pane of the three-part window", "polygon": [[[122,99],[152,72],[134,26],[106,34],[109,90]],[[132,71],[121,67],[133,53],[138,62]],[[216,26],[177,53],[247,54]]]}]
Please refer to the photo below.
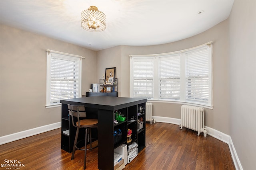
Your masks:
[{"label": "white horizontal blind in the middle pane of the three-part window", "polygon": [[180,54],[159,57],[159,98],[180,99]]}]

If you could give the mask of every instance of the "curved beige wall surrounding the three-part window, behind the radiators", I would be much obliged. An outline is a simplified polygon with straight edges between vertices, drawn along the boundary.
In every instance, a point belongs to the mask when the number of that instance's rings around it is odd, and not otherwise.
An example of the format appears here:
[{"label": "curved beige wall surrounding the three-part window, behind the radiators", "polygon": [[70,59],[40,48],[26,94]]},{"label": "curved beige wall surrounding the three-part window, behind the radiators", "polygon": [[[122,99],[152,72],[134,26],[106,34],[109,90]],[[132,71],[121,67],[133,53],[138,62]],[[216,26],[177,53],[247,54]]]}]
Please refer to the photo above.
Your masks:
[{"label": "curved beige wall surrounding the three-part window, behind the radiators", "polygon": [[[213,105],[214,109],[206,109],[205,125],[214,128],[218,131],[230,135],[230,110],[229,110],[229,53],[228,53],[228,21],[225,20],[218,25],[215,25],[211,29],[200,33],[194,37],[176,41],[174,43],[168,43],[163,45],[153,45],[144,47],[134,46],[122,46],[121,51],[117,50],[117,47],[110,48],[97,52],[97,56],[100,57],[98,61],[101,67],[104,68],[104,57],[109,55],[116,55],[121,57],[120,63],[122,65],[116,65],[117,78],[122,79],[122,86],[118,86],[120,97],[129,97],[130,89],[130,57],[129,55],[142,55],[142,54],[157,54],[167,53],[172,51],[179,51],[182,49],[188,49],[196,47],[213,41]],[[109,54],[109,55],[108,55]],[[109,64],[109,63],[106,63]],[[121,73],[121,74],[120,74]],[[98,74],[100,75],[100,74]],[[180,119],[180,104],[170,103],[154,103],[153,116],[171,117]]]}]

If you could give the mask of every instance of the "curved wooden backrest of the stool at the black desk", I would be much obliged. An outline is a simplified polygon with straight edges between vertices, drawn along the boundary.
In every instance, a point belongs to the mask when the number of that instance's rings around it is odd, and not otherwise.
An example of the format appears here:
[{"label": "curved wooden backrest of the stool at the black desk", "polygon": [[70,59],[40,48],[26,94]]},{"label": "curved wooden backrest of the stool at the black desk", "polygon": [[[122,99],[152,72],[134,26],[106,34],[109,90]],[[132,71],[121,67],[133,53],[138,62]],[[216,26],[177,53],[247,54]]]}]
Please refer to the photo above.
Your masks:
[{"label": "curved wooden backrest of the stool at the black desk", "polygon": [[[80,117],[86,117],[86,111],[84,106],[75,106],[68,104],[68,112],[72,118],[72,124],[74,127],[80,127]],[[74,117],[77,117],[78,126],[74,122]]]}]

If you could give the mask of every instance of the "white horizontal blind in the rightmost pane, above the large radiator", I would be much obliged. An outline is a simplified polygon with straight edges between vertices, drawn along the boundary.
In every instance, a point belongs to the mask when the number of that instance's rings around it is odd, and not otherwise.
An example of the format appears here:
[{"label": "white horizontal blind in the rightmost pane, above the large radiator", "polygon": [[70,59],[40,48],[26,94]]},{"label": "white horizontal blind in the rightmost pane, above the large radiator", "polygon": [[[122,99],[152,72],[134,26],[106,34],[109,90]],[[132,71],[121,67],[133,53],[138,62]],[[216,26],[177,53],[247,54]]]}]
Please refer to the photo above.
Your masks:
[{"label": "white horizontal blind in the rightmost pane, above the large radiator", "polygon": [[186,100],[208,103],[209,49],[204,47],[186,53]]}]

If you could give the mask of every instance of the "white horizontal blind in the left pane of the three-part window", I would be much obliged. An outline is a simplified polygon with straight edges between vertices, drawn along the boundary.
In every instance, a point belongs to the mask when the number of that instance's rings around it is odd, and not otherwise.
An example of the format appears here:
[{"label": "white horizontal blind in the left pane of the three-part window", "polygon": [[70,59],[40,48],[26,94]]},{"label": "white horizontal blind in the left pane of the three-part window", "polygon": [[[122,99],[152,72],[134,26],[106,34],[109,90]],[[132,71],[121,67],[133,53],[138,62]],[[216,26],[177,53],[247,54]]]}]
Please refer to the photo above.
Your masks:
[{"label": "white horizontal blind in the left pane of the three-part window", "polygon": [[153,59],[132,59],[132,97],[153,98]]}]

